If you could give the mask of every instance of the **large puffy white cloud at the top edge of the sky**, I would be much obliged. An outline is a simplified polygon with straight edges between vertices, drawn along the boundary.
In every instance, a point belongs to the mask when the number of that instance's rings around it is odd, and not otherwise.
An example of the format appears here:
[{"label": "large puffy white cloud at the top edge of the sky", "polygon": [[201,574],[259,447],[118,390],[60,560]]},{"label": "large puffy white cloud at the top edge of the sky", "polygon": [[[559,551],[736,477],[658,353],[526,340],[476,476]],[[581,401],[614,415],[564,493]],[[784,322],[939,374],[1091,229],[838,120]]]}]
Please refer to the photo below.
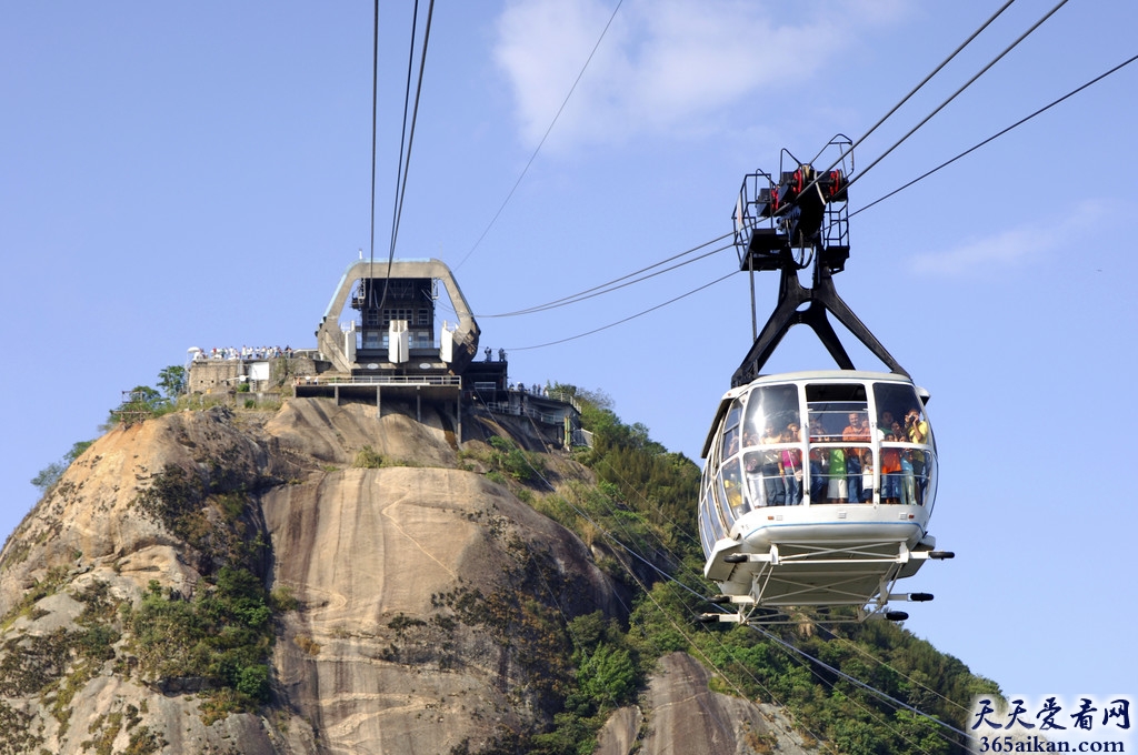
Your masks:
[{"label": "large puffy white cloud at the top edge of the sky", "polygon": [[[513,89],[527,144],[549,128],[615,1],[508,3],[494,59]],[[860,28],[887,23],[896,7],[827,3],[811,16],[793,3],[753,0],[625,0],[554,141],[564,148],[701,128],[743,98],[785,94],[834,65]]]}]

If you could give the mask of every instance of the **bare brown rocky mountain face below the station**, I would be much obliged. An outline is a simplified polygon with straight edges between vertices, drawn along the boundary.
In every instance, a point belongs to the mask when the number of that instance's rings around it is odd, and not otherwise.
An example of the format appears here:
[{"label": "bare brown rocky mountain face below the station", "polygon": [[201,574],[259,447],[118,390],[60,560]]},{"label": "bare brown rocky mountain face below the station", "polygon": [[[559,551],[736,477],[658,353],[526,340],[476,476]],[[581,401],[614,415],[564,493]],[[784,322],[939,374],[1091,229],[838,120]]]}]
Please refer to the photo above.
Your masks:
[{"label": "bare brown rocky mountain face below the station", "polygon": [[414,416],[288,399],[92,443],[0,551],[0,754],[816,750],[682,644],[636,677],[636,579],[536,511],[592,470]]}]

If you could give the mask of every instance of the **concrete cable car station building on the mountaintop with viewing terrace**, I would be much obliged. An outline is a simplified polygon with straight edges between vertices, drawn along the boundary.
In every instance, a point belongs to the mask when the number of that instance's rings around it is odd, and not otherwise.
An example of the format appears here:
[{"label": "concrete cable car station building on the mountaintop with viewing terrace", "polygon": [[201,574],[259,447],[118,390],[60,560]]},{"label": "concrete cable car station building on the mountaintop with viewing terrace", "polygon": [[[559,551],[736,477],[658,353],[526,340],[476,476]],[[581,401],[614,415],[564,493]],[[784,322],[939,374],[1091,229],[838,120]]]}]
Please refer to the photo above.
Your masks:
[{"label": "concrete cable car station building on the mountaintop with viewing terrace", "polygon": [[[436,302],[450,299],[457,321],[435,332]],[[505,354],[478,356],[478,323],[450,268],[438,259],[358,260],[344,271],[316,327],[316,348],[190,349],[190,393],[262,395],[291,384],[297,397],[337,401],[426,399],[454,406],[461,438],[463,398],[503,414],[526,414],[582,439],[580,413],[566,397],[511,390]],[[248,385],[248,388],[242,388]]]}]

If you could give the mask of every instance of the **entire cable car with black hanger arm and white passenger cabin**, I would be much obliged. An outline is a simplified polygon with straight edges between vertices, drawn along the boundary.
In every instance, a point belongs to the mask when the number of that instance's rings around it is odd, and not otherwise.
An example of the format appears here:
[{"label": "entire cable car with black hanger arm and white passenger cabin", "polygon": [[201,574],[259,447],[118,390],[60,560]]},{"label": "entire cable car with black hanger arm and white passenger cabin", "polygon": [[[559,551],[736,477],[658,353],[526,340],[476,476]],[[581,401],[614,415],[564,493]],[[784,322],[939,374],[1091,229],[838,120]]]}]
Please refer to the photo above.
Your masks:
[{"label": "entire cable car with black hanger arm and white passenger cabin", "polygon": [[[757,172],[735,206],[741,269],[782,274],[778,301],[719,401],[703,445],[699,530],[715,603],[736,613],[706,621],[781,623],[792,607],[852,606],[852,616],[900,621],[891,600],[925,561],[951,558],[929,534],[937,446],[918,388],[838,296],[849,257],[850,142],[830,143],[842,169],[816,172],[786,150],[780,181]],[[847,169],[848,168],[848,169]],[[811,268],[811,284],[799,271]],[[753,291],[753,281],[752,281]],[[753,294],[752,294],[753,318]],[[833,315],[889,372],[856,370]],[[793,325],[809,325],[838,370],[761,374]]]}]

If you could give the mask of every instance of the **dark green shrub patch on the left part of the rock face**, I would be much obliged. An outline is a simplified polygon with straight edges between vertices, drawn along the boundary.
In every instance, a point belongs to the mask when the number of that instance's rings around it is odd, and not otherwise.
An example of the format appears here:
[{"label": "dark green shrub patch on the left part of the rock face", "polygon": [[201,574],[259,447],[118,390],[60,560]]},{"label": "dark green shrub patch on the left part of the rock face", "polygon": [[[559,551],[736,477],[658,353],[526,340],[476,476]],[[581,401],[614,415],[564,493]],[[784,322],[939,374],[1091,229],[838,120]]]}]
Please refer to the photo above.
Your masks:
[{"label": "dark green shrub patch on the left part of the rock face", "polygon": [[269,698],[273,616],[296,607],[288,590],[270,596],[263,573],[269,539],[250,504],[277,481],[258,478],[225,455],[200,461],[206,473],[167,465],[134,506],[185,541],[206,583],[192,599],[164,591],[157,581],[141,606],[121,609],[127,652],[143,677],[207,698],[205,720],[251,711]]}]

